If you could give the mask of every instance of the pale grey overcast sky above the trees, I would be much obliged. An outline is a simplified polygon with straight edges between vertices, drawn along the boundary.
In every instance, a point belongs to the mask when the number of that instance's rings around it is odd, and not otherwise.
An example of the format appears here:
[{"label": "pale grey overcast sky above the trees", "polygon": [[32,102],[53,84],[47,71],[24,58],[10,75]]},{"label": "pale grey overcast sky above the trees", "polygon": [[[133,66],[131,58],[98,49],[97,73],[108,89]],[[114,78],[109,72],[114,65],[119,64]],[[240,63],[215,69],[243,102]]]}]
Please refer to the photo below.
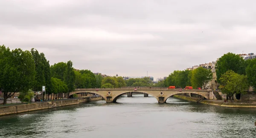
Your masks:
[{"label": "pale grey overcast sky above the trees", "polygon": [[0,0],[0,45],[114,76],[256,53],[256,0]]}]

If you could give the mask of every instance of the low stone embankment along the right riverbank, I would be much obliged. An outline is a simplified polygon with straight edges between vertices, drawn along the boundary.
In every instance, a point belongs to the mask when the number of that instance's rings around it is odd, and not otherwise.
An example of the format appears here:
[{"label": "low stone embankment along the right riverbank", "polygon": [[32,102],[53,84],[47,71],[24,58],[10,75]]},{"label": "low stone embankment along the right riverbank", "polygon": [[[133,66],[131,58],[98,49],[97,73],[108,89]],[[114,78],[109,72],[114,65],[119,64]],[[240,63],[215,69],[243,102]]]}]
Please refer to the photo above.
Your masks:
[{"label": "low stone embankment along the right riverbank", "polygon": [[174,95],[173,97],[184,99],[186,101],[192,101],[201,104],[215,105],[220,107],[233,107],[233,108],[256,108],[256,102],[224,102],[222,100],[206,100],[196,97],[189,97],[183,95]]}]

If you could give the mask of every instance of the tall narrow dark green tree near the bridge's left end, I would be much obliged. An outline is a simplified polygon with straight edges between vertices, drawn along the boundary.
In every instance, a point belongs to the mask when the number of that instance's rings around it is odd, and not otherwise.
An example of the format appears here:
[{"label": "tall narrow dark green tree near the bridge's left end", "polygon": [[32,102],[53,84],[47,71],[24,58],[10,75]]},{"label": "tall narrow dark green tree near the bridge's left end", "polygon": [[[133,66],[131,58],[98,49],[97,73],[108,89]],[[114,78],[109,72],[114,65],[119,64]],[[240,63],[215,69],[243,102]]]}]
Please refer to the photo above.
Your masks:
[{"label": "tall narrow dark green tree near the bridge's left end", "polygon": [[69,93],[75,90],[75,81],[76,81],[76,75],[74,72],[74,68],[72,67],[73,63],[71,61],[67,62],[67,67],[65,69],[64,73],[64,82],[67,84],[68,92],[67,96],[69,96]]}]

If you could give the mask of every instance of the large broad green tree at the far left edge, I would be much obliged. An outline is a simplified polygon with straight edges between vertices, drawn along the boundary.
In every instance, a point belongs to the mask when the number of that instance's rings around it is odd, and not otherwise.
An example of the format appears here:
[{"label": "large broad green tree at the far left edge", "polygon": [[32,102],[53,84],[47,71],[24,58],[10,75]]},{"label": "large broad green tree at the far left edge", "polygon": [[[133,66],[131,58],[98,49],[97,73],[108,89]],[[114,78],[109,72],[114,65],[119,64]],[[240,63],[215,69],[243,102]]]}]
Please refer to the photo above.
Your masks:
[{"label": "large broad green tree at the far left edge", "polygon": [[16,92],[26,92],[35,82],[35,63],[30,51],[20,48],[10,51],[0,46],[0,90],[6,104],[7,98]]}]

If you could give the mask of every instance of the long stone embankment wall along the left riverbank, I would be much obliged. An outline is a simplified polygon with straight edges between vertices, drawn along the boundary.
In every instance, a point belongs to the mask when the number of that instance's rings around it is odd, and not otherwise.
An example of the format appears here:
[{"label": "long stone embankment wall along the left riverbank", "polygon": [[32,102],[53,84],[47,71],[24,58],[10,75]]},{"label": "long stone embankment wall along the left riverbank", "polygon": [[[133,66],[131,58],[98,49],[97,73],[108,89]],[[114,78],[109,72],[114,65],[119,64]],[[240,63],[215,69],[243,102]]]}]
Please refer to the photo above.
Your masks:
[{"label": "long stone embankment wall along the left riverbank", "polygon": [[101,100],[102,97],[82,97],[79,99],[66,99],[60,101],[48,101],[33,104],[20,104],[0,107],[0,116],[11,115],[35,110],[50,109],[55,107],[64,107],[68,105],[80,104],[84,102]]}]

